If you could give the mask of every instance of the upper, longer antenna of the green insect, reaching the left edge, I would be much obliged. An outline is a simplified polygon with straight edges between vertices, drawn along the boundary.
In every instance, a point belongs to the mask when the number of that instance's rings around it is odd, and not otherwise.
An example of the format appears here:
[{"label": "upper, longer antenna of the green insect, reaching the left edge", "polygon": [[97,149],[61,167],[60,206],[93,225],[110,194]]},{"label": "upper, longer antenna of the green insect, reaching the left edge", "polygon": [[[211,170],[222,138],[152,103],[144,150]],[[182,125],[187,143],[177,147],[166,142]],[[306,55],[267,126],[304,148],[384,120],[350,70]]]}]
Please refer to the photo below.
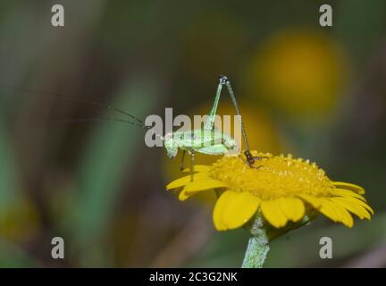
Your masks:
[{"label": "upper, longer antenna of the green insect, reaching the left edge", "polygon": [[145,123],[142,120],[138,119],[138,117],[136,117],[136,116],[134,116],[132,114],[127,113],[126,111],[124,111],[121,108],[115,107],[113,105],[105,105],[103,103],[100,103],[100,102],[97,102],[97,101],[94,101],[94,100],[83,99],[81,97],[76,97],[76,96],[68,96],[68,95],[64,95],[64,94],[59,93],[59,92],[52,92],[52,91],[47,91],[47,90],[38,90],[38,89],[32,89],[32,88],[21,88],[21,87],[9,86],[9,85],[0,85],[0,88],[8,88],[8,89],[16,90],[16,91],[30,92],[30,93],[42,94],[42,95],[52,96],[52,97],[69,98],[69,99],[72,99],[72,100],[75,100],[75,101],[78,101],[78,102],[81,102],[81,103],[84,103],[84,104],[96,105],[96,106],[104,107],[104,108],[106,108],[108,110],[112,110],[113,112],[116,112],[116,113],[119,113],[119,114],[124,114],[126,116],[129,116],[135,122],[138,122],[138,124],[145,125]]}]

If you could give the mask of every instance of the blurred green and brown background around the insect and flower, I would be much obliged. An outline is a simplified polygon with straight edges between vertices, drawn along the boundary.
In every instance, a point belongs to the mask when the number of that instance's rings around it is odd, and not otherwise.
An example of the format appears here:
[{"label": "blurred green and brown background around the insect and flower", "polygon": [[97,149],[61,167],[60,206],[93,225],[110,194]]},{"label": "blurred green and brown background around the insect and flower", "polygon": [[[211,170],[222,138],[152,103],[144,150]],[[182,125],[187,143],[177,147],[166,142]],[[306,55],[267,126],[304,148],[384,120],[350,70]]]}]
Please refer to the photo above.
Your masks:
[{"label": "blurred green and brown background around the insect and flower", "polygon": [[[333,27],[319,26],[331,4]],[[273,241],[266,266],[386,266],[386,2],[0,0],[0,86],[206,114],[231,79],[253,149],[317,162],[366,189],[375,215],[320,218]],[[65,26],[51,25],[63,4]],[[222,97],[220,114],[233,114]],[[96,106],[0,88],[0,266],[235,266],[246,231],[214,231],[213,198],[165,191],[179,158]],[[121,117],[122,116],[117,116]],[[198,163],[214,157],[199,156]],[[51,257],[63,237],[65,258]],[[333,241],[333,259],[319,240]]]}]

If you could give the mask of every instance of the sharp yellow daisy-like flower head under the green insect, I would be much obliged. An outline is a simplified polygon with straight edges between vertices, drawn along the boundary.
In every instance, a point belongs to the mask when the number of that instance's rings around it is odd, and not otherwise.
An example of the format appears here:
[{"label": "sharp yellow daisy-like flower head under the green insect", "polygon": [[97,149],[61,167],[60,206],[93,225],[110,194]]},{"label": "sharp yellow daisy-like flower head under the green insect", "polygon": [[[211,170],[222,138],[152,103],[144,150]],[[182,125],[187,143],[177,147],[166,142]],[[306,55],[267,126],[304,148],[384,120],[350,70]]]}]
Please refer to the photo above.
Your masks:
[{"label": "sharp yellow daisy-like flower head under the green insect", "polygon": [[250,168],[239,156],[224,156],[212,165],[196,165],[193,181],[187,175],[166,189],[180,189],[180,200],[214,189],[219,196],[213,214],[218,231],[239,228],[256,212],[277,229],[315,211],[349,228],[354,223],[351,214],[370,220],[373,209],[363,197],[365,189],[331,181],[308,160],[252,154],[265,157],[256,161],[258,168]]}]

